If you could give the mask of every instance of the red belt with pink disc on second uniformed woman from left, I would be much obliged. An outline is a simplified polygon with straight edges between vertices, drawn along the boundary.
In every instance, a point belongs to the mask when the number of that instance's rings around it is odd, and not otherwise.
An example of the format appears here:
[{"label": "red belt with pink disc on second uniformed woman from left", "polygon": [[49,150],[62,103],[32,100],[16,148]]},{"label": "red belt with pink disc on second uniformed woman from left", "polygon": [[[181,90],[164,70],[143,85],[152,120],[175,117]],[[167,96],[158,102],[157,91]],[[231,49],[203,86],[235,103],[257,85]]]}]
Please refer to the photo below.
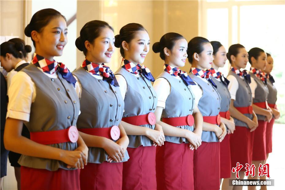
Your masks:
[{"label": "red belt with pink disc on second uniformed woman from left", "polygon": [[106,137],[113,140],[118,140],[120,137],[120,129],[118,126],[114,125],[112,127],[105,127],[105,128],[85,128],[85,129],[78,129],[82,133],[96,135],[100,137]]}]

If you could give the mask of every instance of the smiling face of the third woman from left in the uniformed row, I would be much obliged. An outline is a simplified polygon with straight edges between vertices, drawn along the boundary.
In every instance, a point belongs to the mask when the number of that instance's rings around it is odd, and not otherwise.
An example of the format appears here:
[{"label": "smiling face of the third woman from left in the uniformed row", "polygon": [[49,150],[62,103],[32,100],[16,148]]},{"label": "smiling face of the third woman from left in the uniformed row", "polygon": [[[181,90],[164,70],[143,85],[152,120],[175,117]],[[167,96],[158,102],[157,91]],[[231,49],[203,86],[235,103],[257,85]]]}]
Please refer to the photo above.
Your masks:
[{"label": "smiling face of the third woman from left in the uniformed row", "polygon": [[[126,41],[122,42],[123,44]],[[134,64],[142,64],[146,57],[146,54],[150,50],[150,37],[145,30],[136,31],[134,38],[130,43],[123,45],[125,59],[133,62]]]}]

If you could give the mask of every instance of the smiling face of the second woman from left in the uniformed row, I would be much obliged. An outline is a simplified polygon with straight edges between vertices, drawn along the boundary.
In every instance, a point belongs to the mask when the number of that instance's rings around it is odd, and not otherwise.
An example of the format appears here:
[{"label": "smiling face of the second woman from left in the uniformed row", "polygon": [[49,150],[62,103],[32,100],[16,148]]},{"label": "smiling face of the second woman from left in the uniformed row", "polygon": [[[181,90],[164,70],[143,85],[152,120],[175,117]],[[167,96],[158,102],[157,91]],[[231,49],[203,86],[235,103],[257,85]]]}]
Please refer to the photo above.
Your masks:
[{"label": "smiling face of the second woman from left in the uniformed row", "polygon": [[101,29],[100,35],[92,44],[88,43],[86,47],[85,43],[86,59],[96,64],[109,63],[115,48],[114,43],[114,32],[108,27]]}]

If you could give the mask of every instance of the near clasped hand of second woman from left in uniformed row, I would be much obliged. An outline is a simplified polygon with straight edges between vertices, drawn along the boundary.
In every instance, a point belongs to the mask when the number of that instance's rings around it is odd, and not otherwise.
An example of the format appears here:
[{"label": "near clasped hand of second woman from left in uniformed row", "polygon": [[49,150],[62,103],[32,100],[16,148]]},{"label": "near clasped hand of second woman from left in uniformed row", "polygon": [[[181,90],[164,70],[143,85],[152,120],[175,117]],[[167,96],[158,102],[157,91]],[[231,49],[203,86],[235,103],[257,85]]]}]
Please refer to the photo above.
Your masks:
[{"label": "near clasped hand of second woman from left in uniformed row", "polygon": [[122,146],[118,145],[116,142],[108,139],[107,143],[103,149],[107,152],[111,159],[108,159],[115,162],[121,162],[124,159],[125,151]]}]

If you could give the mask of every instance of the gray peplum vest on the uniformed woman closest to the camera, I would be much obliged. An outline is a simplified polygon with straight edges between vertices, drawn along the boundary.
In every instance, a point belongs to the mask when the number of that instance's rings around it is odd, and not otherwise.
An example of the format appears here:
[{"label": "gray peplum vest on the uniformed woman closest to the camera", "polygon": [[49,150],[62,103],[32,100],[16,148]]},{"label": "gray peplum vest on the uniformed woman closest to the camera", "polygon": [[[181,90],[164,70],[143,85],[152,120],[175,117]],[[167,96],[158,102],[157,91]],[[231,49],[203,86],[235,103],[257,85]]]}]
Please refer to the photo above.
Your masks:
[{"label": "gray peplum vest on the uniformed woman closest to the camera", "polygon": [[[36,99],[31,105],[30,120],[25,122],[29,131],[55,131],[75,126],[80,105],[73,85],[63,79],[60,73],[57,79],[49,78],[33,64],[21,71],[27,73],[36,86]],[[48,146],[74,150],[77,143],[64,142]],[[62,161],[26,155],[22,155],[18,162],[22,166],[50,171],[67,169]]]}]

